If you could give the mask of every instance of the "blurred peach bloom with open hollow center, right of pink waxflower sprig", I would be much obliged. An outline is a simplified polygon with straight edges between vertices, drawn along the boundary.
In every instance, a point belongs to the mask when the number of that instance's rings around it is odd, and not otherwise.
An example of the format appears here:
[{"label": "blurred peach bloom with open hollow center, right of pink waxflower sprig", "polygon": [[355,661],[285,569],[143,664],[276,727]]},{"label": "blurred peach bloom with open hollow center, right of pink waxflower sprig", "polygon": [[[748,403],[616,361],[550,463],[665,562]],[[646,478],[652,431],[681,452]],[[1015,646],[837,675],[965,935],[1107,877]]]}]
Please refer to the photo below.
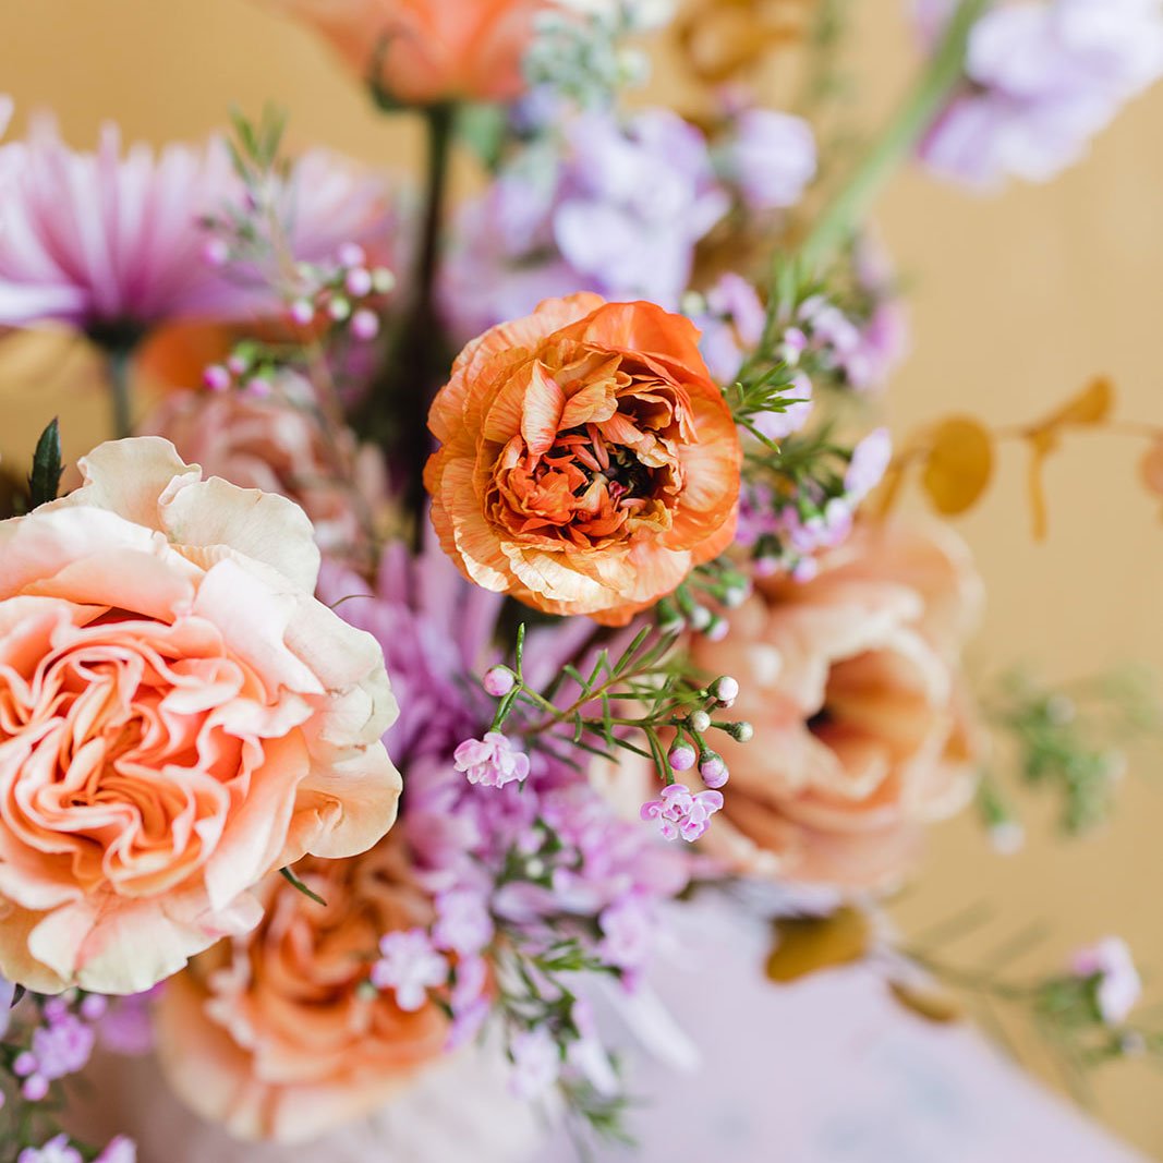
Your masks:
[{"label": "blurred peach bloom with open hollow center, right of pink waxflower sprig", "polygon": [[925,826],[972,789],[978,742],[961,648],[980,608],[969,551],[946,528],[868,525],[799,584],[761,582],[694,662],[740,683],[730,769],[708,851],[744,873],[889,886]]}]

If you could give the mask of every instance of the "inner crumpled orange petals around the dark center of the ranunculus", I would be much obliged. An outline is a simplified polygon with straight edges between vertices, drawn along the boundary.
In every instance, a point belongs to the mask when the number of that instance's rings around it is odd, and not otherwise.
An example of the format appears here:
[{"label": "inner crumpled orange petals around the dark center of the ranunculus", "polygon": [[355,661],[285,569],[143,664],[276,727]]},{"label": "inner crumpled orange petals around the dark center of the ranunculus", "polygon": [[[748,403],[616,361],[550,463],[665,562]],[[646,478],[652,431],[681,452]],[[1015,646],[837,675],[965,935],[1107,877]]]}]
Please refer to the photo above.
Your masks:
[{"label": "inner crumpled orange petals around the dark center of the ranunculus", "polygon": [[629,356],[555,356],[529,366],[520,431],[486,497],[493,522],[547,549],[665,533],[685,485],[682,449],[694,440],[687,393]]}]

